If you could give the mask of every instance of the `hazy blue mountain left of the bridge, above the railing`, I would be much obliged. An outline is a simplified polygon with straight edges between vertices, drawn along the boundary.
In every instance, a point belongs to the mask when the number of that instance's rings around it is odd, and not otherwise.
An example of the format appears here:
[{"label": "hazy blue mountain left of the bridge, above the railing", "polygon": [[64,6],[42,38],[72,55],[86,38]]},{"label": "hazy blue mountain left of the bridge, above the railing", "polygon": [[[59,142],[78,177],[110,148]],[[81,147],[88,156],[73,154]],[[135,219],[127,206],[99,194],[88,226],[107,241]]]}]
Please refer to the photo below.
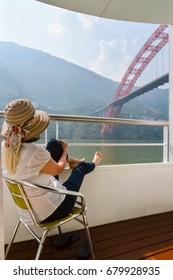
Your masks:
[{"label": "hazy blue mountain left of the bridge, above the railing", "polygon": [[0,110],[27,97],[49,112],[91,114],[112,100],[117,85],[48,53],[0,42]]}]

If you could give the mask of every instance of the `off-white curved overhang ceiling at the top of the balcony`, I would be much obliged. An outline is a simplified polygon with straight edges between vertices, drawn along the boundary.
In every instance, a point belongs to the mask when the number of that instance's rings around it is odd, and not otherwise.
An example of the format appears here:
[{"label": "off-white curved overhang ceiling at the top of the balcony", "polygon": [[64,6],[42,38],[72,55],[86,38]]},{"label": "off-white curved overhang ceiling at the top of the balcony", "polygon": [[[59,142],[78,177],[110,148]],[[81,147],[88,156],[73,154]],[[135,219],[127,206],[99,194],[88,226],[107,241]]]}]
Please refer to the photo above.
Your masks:
[{"label": "off-white curved overhang ceiling at the top of the balcony", "polygon": [[37,0],[79,13],[116,20],[173,24],[173,0]]}]

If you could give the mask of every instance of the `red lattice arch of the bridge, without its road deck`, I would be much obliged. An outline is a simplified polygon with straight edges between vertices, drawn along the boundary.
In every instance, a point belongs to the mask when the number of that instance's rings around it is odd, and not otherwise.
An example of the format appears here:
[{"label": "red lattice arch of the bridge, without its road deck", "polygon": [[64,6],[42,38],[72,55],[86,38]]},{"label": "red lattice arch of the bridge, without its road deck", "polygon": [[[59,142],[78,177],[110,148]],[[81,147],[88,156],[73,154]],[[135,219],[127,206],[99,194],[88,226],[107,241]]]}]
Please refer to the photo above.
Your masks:
[{"label": "red lattice arch of the bridge, without its road deck", "polygon": [[[146,69],[147,65],[156,56],[156,54],[166,45],[168,42],[168,33],[164,32],[167,28],[167,24],[161,24],[156,31],[146,41],[140,51],[137,53],[127,71],[125,72],[114,96],[113,101],[128,96],[133,89],[136,81]],[[118,117],[123,105],[114,107],[110,105],[107,109],[106,117]],[[112,132],[113,125],[104,124],[101,132]]]}]

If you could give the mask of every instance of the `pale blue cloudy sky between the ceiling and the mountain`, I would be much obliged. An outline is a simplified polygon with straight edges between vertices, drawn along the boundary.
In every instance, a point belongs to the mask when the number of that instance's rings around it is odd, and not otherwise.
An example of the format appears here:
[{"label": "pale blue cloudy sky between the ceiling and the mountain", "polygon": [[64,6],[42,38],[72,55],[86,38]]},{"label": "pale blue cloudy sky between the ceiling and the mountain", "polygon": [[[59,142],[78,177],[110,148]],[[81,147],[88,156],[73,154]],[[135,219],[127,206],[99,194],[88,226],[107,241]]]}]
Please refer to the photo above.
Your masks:
[{"label": "pale blue cloudy sky between the ceiling and the mountain", "polygon": [[120,82],[159,26],[101,19],[35,0],[0,0],[0,41],[42,50]]}]

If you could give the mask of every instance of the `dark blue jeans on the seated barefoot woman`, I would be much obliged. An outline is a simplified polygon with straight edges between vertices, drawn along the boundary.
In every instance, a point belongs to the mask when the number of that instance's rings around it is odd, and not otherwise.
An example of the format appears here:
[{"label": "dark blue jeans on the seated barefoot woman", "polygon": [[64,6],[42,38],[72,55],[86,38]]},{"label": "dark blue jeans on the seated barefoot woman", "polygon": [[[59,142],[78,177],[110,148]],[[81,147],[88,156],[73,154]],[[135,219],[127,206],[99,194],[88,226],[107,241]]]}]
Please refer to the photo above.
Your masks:
[{"label": "dark blue jeans on the seated barefoot woman", "polygon": [[[50,152],[52,158],[58,162],[63,149],[61,142],[52,138],[47,144],[46,149]],[[63,186],[67,190],[78,192],[82,185],[83,179],[86,174],[92,172],[95,168],[95,163],[93,162],[80,162],[71,172],[71,175],[66,182],[63,183]],[[55,176],[58,179],[58,176]],[[76,197],[71,195],[66,195],[65,199],[61,205],[44,221],[53,221],[55,219],[60,219],[68,215],[68,213],[73,209],[73,206],[76,202]]]}]

